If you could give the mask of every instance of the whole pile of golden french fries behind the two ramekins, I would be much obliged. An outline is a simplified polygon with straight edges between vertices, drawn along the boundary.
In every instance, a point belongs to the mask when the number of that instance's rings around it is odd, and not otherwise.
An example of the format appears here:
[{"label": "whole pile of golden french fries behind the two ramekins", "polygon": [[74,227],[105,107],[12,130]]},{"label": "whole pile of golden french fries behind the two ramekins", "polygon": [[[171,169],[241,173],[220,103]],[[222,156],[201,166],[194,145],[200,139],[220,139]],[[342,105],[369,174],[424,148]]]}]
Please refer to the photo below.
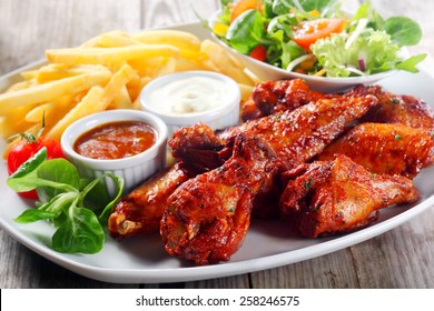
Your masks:
[{"label": "whole pile of golden french fries behind the two ramekins", "polygon": [[140,90],[172,72],[224,73],[238,82],[244,99],[258,82],[219,44],[178,30],[110,31],[77,48],[47,50],[46,58],[46,66],[21,72],[22,81],[0,94],[3,139],[36,132],[43,118],[43,136],[60,140],[65,129],[85,116],[139,109]]}]

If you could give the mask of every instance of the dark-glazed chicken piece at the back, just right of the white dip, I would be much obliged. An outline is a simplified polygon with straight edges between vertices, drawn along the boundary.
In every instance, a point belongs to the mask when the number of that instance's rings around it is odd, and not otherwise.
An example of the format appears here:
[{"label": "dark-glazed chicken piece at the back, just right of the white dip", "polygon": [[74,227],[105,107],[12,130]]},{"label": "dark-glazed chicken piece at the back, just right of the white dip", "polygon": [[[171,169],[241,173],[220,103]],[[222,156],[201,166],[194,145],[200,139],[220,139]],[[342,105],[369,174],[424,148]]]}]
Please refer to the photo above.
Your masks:
[{"label": "dark-glazed chicken piece at the back, just right of the white dip", "polygon": [[310,101],[327,97],[310,90],[302,79],[265,81],[255,86],[251,96],[241,104],[243,121],[294,110]]}]

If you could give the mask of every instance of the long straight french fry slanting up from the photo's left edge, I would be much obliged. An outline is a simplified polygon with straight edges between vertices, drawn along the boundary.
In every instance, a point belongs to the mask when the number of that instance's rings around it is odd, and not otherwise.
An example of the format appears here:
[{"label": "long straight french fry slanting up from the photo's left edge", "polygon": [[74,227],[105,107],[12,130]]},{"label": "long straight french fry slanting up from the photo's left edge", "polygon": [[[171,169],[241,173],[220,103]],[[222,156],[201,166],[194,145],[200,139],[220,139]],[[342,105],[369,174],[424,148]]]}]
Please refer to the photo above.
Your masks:
[{"label": "long straight french fry slanting up from the photo's left edge", "polygon": [[18,107],[50,102],[65,94],[78,93],[106,82],[110,76],[108,70],[107,72],[96,71],[2,93],[0,94],[0,114]]}]

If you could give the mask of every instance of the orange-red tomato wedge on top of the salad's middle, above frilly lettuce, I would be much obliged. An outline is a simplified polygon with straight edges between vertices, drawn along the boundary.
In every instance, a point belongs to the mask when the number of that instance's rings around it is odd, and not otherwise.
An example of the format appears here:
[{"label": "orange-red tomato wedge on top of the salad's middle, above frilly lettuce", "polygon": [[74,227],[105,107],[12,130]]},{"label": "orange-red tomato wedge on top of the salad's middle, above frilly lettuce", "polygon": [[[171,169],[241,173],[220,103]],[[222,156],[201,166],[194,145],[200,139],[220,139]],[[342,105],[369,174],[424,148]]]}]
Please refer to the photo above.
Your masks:
[{"label": "orange-red tomato wedge on top of the salad's middle, above frilly lettuce", "polygon": [[310,44],[316,40],[326,38],[332,33],[341,32],[344,29],[345,19],[317,19],[308,20],[299,23],[294,29],[293,40],[300,46],[305,51],[310,51]]}]

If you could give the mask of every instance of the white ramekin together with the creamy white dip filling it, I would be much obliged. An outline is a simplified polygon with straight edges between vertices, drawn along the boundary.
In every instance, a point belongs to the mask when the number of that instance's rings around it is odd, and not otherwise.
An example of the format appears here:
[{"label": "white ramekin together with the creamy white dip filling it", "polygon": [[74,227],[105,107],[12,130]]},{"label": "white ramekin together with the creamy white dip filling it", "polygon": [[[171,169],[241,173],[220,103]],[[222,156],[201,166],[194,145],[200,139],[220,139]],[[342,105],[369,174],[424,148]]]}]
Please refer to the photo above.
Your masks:
[{"label": "white ramekin together with the creamy white dip filling it", "polygon": [[169,129],[203,122],[213,130],[238,124],[240,90],[220,73],[185,71],[162,76],[148,83],[140,93],[144,111],[159,117]]}]

